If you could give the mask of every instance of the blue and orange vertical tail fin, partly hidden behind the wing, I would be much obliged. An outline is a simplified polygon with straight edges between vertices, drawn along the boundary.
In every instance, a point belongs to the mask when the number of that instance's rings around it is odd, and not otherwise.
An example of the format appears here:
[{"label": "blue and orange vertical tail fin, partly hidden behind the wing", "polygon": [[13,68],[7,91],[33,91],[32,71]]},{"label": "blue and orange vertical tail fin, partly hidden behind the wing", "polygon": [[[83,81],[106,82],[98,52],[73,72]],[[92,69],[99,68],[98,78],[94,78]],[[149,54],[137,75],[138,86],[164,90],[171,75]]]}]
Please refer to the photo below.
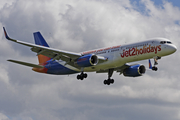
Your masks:
[{"label": "blue and orange vertical tail fin, partly hidden behind the wing", "polygon": [[[33,33],[33,35],[34,35],[35,44],[49,47],[49,45],[47,44],[47,42],[45,41],[45,39],[43,38],[40,32],[35,32]],[[43,64],[50,59],[51,59],[50,57],[47,57],[41,54],[38,55],[39,64]]]}]

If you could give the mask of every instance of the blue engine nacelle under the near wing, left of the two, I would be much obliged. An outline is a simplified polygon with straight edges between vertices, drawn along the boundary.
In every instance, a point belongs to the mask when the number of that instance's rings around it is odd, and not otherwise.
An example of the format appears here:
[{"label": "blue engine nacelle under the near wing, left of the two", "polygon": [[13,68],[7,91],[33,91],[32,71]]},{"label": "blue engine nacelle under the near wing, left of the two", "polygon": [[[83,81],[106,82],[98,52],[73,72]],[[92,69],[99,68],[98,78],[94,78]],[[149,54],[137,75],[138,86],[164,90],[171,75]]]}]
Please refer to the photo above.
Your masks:
[{"label": "blue engine nacelle under the near wing, left of the two", "polygon": [[93,54],[84,55],[75,62],[79,67],[90,67],[98,63],[98,57]]}]

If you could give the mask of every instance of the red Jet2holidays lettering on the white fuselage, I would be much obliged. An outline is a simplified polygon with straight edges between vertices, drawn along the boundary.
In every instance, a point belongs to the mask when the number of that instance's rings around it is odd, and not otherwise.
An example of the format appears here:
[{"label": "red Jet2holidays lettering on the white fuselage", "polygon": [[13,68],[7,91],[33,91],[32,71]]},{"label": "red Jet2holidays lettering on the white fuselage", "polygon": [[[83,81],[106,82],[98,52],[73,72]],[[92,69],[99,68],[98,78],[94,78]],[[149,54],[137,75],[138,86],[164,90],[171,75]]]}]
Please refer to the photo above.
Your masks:
[{"label": "red Jet2holidays lettering on the white fuselage", "polygon": [[143,46],[143,48],[140,48],[140,49],[138,49],[136,47],[136,48],[130,48],[128,50],[123,50],[121,57],[124,58],[124,57],[128,57],[128,56],[147,54],[147,53],[151,53],[151,52],[154,52],[155,54],[157,54],[157,51],[161,51],[161,45],[159,45],[159,46],[149,45],[149,47]]}]

